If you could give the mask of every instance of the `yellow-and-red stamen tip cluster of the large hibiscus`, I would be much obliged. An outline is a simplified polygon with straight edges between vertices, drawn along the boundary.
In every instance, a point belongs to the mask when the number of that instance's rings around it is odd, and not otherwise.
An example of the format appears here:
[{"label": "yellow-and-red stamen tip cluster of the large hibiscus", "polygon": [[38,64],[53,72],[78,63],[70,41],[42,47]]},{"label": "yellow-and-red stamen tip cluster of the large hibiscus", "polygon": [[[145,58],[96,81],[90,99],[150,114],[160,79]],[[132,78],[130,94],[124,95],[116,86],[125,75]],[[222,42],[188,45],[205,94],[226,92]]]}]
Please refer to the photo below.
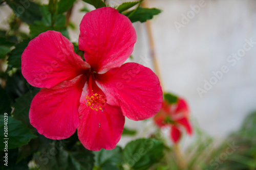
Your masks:
[{"label": "yellow-and-red stamen tip cluster of the large hibiscus", "polygon": [[86,96],[87,106],[89,106],[92,110],[102,110],[102,107],[105,105],[106,99],[104,95],[100,95],[94,93],[91,96]]}]

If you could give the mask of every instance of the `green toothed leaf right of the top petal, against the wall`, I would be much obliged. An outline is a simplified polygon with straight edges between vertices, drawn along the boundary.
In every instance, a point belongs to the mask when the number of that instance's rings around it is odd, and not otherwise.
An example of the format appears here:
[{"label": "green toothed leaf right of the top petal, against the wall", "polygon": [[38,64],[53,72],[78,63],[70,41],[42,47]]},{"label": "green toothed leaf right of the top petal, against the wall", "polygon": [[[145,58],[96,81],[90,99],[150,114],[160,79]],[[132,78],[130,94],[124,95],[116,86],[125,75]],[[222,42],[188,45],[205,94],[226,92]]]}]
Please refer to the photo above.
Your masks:
[{"label": "green toothed leaf right of the top petal, against the wall", "polygon": [[[141,8],[139,7],[138,9],[129,11],[127,13],[125,13],[124,15],[129,17],[129,19],[132,22],[145,22],[148,19],[152,19],[154,15],[157,15],[161,12],[161,10],[156,9],[156,8]],[[132,14],[130,16],[130,14]]]}]

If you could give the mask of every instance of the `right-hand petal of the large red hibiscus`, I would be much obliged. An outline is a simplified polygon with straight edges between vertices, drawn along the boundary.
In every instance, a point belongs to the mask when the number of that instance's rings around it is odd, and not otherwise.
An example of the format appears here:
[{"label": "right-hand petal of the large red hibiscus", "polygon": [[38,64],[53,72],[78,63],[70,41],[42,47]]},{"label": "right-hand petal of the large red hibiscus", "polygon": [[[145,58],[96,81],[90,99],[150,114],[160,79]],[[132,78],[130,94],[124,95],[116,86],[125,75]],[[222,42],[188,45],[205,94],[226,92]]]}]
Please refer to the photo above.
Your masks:
[{"label": "right-hand petal of the large red hibiscus", "polygon": [[161,108],[163,92],[154,72],[137,63],[126,63],[96,77],[110,105],[120,106],[124,116],[143,120]]}]

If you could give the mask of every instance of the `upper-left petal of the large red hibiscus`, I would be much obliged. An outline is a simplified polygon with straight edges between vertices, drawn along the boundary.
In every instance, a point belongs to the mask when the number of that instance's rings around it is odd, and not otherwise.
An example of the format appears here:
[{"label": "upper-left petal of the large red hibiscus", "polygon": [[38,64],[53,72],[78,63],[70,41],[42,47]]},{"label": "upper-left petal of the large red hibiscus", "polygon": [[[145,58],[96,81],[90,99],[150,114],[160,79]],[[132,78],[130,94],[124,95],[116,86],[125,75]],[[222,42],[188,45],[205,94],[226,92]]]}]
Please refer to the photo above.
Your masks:
[{"label": "upper-left petal of the large red hibiscus", "polygon": [[56,31],[39,34],[22,54],[22,74],[35,87],[52,88],[88,68],[90,65],[74,53],[73,44]]}]

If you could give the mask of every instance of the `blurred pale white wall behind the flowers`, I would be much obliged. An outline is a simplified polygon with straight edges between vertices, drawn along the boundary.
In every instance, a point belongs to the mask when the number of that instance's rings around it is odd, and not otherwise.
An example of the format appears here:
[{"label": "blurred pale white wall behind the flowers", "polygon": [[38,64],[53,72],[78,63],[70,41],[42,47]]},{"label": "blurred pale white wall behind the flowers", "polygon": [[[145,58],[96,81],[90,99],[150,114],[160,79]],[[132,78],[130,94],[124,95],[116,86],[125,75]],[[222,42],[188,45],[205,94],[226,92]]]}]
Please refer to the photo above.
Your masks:
[{"label": "blurred pale white wall behind the flowers", "polygon": [[[175,21],[182,23],[182,14],[187,12],[193,16],[190,5],[199,2],[148,1],[150,7],[163,10],[152,20],[152,27],[165,88],[186,98],[199,126],[221,139],[256,110],[256,43],[250,50],[247,44],[243,51],[245,39],[256,42],[256,2],[205,1],[200,12],[178,31]],[[144,50],[144,26],[135,26],[138,43],[134,56],[149,54]],[[233,53],[243,57],[231,61]],[[200,97],[197,88],[204,88],[204,80],[215,79],[212,71],[220,71],[222,66],[228,71]]]}]

